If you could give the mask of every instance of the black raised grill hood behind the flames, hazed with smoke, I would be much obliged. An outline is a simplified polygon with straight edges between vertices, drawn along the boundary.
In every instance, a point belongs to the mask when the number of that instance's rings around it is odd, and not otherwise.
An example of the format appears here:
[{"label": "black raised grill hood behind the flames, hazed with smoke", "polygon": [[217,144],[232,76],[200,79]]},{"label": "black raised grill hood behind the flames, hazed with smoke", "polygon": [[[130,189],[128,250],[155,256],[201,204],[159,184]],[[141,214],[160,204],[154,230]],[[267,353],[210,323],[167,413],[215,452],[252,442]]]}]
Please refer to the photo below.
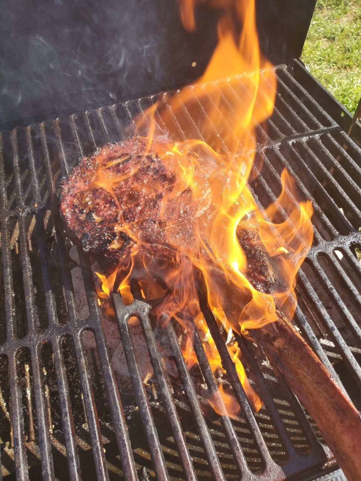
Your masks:
[{"label": "black raised grill hood behind the flames, hazed with smoke", "polygon": [[[261,49],[271,62],[300,56],[315,3],[257,1]],[[176,0],[6,0],[0,17],[0,128],[196,79],[216,45],[218,14],[200,5],[197,31],[188,33]]]}]

